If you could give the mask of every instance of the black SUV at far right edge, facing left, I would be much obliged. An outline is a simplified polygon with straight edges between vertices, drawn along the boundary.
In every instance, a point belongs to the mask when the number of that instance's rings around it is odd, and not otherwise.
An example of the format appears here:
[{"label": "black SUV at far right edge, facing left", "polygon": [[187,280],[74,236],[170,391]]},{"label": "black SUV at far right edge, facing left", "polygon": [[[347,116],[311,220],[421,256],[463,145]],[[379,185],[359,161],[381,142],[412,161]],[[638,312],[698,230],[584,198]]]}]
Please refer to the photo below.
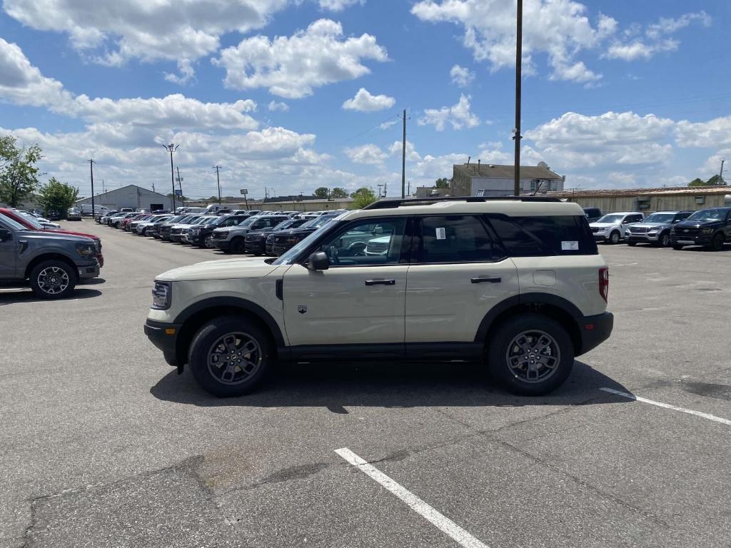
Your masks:
[{"label": "black SUV at far right edge, facing left", "polygon": [[673,249],[705,246],[713,251],[721,251],[725,242],[731,242],[731,208],[696,211],[670,230]]}]

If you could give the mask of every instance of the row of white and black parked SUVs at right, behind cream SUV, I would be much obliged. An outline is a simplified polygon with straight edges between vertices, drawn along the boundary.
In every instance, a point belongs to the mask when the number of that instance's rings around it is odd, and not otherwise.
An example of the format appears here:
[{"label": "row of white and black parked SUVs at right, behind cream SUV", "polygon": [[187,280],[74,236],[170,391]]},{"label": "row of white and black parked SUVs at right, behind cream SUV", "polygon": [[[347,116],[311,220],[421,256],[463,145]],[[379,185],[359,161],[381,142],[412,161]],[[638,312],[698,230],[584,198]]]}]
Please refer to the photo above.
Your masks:
[{"label": "row of white and black parked SUVs at right, behind cream SUV", "polygon": [[[596,215],[586,208],[591,220]],[[682,249],[705,246],[721,251],[731,243],[731,208],[708,208],[698,211],[657,211],[645,217],[637,211],[609,213],[589,224],[594,240],[611,244],[624,240],[629,246],[650,243]]]}]

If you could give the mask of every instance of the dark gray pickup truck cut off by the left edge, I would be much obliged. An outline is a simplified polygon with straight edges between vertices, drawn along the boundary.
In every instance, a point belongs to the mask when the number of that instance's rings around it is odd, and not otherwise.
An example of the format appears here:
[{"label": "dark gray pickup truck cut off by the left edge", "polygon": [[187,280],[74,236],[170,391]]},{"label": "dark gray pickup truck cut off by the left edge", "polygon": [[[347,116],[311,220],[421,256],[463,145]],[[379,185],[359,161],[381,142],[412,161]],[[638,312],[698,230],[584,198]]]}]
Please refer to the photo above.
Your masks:
[{"label": "dark gray pickup truck cut off by the left edge", "polygon": [[30,285],[41,299],[63,299],[98,275],[91,238],[28,230],[0,214],[1,286]]}]

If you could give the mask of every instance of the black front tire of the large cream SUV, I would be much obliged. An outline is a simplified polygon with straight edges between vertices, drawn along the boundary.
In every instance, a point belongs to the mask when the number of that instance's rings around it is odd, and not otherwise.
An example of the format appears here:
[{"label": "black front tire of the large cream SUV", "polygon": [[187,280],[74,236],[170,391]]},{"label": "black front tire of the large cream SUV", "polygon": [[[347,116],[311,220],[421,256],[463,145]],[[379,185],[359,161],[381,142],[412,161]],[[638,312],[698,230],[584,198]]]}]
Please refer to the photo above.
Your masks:
[{"label": "black front tire of the large cream SUV", "polygon": [[[221,342],[229,337],[230,342]],[[246,342],[244,346],[245,341],[253,341],[253,345]],[[241,344],[238,354],[230,348],[231,343],[234,347]],[[249,354],[246,354],[247,349]],[[231,354],[225,355],[225,352]],[[235,361],[233,365],[229,365],[231,357]],[[247,362],[247,359],[251,359],[251,362]],[[188,353],[195,380],[202,389],[216,397],[248,394],[260,384],[274,359],[273,346],[267,333],[243,316],[219,316],[208,321],[194,336]],[[240,365],[238,362],[241,360],[246,365]],[[221,365],[217,366],[216,361]],[[251,372],[247,373],[246,368],[249,366]],[[230,378],[227,379],[227,376]]]}]

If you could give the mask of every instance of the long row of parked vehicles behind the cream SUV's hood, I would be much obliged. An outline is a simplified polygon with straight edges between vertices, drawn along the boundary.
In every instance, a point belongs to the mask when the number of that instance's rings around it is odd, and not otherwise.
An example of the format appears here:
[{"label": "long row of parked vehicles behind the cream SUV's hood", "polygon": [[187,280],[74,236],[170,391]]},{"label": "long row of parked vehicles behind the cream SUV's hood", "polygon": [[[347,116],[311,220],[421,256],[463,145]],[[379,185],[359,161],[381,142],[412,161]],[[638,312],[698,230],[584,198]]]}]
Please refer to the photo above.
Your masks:
[{"label": "long row of parked vehicles behind the cream SUV's hood", "polygon": [[254,210],[221,215],[121,212],[99,216],[97,221],[135,235],[219,249],[226,254],[279,256],[344,211]]}]

